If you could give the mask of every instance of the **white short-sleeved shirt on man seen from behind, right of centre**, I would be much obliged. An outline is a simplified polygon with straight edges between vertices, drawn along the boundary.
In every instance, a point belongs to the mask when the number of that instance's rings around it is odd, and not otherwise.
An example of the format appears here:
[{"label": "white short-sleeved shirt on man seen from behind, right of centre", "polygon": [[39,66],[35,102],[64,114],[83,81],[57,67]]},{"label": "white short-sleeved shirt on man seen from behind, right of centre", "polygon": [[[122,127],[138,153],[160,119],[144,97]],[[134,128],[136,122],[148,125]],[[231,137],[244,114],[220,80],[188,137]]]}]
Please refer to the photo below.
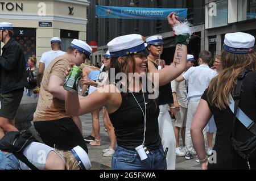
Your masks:
[{"label": "white short-sleeved shirt on man seen from behind, right of centre", "polygon": [[188,101],[199,102],[210,81],[217,75],[208,65],[189,68],[182,76],[188,81]]}]

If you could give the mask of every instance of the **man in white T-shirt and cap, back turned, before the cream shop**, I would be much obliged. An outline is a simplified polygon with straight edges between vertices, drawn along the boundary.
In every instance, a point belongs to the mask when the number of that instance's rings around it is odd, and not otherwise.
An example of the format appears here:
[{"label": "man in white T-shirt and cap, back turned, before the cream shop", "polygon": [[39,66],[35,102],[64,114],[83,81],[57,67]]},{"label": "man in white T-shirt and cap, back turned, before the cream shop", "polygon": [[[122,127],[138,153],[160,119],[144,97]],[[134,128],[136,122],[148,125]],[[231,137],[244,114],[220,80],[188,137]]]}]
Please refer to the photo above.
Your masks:
[{"label": "man in white T-shirt and cap, back turned, before the cream shop", "polygon": [[43,73],[44,70],[46,70],[47,66],[56,58],[59,57],[63,54],[65,54],[65,52],[60,50],[60,44],[61,44],[61,39],[59,37],[52,37],[51,38],[51,48],[52,50],[49,50],[48,52],[44,52],[42,54],[42,57],[40,59],[39,62],[39,68],[38,68],[38,80],[37,80],[37,84],[38,87],[40,87],[42,78],[43,78]]}]

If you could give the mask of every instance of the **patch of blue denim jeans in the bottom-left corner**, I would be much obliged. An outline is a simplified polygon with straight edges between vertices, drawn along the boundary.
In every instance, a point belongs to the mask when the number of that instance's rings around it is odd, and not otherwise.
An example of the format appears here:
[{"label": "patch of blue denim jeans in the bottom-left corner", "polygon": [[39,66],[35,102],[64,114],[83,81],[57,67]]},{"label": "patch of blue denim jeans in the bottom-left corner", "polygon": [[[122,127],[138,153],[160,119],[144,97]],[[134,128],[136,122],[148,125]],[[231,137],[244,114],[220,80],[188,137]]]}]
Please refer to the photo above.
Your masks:
[{"label": "patch of blue denim jeans in the bottom-left corner", "polygon": [[0,170],[19,170],[19,160],[12,153],[0,150]]}]

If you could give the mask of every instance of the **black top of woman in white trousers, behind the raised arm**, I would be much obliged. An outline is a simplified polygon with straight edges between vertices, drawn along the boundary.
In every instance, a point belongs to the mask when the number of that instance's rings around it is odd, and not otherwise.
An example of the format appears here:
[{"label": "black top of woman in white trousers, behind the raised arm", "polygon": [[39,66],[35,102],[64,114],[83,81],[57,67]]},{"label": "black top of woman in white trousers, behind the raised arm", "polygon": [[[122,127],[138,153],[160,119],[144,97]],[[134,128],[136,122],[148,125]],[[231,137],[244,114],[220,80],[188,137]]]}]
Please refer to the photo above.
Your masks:
[{"label": "black top of woman in white trousers, behind the raised arm", "polygon": [[[153,62],[154,63],[154,62]],[[158,69],[158,65],[155,65],[155,68]],[[172,87],[171,87],[171,82],[167,83],[164,86],[159,87],[159,96],[158,96],[158,104],[159,105],[164,105],[174,103],[174,98],[172,97]]]}]

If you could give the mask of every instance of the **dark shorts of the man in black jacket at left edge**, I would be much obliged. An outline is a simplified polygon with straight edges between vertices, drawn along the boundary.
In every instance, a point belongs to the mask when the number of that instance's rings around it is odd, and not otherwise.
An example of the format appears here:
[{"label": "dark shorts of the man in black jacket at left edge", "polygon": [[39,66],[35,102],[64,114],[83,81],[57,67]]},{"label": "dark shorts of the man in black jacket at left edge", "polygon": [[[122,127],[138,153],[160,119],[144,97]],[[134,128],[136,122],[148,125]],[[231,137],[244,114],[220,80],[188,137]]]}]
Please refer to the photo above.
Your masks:
[{"label": "dark shorts of the man in black jacket at left edge", "polygon": [[17,89],[5,94],[0,94],[0,117],[14,119],[22,100],[24,89]]}]

